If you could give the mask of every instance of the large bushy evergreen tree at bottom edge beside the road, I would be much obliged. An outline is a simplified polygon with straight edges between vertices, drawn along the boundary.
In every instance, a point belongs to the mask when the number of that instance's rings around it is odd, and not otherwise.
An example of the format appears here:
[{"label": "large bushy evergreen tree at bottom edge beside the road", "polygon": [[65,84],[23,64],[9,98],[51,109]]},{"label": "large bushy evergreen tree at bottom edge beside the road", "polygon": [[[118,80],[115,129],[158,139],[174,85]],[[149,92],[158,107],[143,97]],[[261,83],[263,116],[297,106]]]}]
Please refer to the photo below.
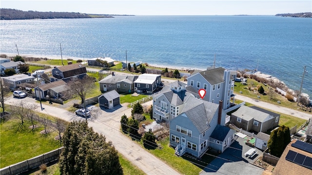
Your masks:
[{"label": "large bushy evergreen tree at bottom edge beside the road", "polygon": [[69,123],[59,158],[61,175],[122,175],[117,151],[111,142],[87,123]]}]

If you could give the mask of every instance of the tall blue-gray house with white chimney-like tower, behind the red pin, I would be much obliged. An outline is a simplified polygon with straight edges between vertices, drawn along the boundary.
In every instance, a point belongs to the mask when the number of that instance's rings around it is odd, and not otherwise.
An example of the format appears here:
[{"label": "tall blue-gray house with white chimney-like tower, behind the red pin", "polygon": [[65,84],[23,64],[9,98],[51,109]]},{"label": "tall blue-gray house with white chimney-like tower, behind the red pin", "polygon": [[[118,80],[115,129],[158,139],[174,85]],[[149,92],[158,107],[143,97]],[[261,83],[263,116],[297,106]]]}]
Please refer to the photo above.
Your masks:
[{"label": "tall blue-gray house with white chimney-like tower, behind the red pin", "polygon": [[193,73],[187,78],[189,91],[198,93],[199,89],[205,89],[206,95],[203,100],[218,104],[222,100],[222,109],[229,109],[233,104],[230,102],[231,97],[234,99],[234,80],[236,71],[225,70],[223,68],[213,68],[210,70]]}]

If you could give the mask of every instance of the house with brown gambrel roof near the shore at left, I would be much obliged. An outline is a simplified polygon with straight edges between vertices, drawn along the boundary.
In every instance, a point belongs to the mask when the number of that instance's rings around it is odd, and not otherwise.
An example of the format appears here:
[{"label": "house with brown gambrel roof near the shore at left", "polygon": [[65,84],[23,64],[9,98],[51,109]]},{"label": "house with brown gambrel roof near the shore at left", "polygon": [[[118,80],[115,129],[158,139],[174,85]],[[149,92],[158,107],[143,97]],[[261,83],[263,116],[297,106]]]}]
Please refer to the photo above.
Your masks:
[{"label": "house with brown gambrel roof near the shore at left", "polygon": [[64,80],[68,82],[70,80],[81,79],[87,75],[87,70],[81,63],[60,66],[52,69],[52,76],[50,77],[50,82]]}]

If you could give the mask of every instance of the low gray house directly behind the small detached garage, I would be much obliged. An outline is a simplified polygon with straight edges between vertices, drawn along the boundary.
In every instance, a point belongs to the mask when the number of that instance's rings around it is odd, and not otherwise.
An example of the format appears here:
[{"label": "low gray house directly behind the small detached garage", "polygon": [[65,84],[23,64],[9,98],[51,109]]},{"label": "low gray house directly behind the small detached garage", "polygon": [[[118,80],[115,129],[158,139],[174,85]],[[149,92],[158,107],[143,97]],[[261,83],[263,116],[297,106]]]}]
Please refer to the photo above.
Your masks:
[{"label": "low gray house directly behind the small detached garage", "polygon": [[137,80],[137,75],[115,75],[110,74],[100,80],[99,89],[102,92],[116,90],[117,92],[133,92],[134,81]]}]

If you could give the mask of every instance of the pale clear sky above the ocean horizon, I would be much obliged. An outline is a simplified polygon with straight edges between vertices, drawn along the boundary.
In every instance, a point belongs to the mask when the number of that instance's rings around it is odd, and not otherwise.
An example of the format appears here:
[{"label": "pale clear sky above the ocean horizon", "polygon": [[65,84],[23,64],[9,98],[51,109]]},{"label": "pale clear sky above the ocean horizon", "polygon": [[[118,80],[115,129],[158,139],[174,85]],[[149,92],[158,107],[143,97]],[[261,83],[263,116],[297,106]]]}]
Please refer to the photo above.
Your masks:
[{"label": "pale clear sky above the ocean horizon", "polygon": [[111,15],[276,15],[312,12],[312,0],[0,0],[0,7]]}]

